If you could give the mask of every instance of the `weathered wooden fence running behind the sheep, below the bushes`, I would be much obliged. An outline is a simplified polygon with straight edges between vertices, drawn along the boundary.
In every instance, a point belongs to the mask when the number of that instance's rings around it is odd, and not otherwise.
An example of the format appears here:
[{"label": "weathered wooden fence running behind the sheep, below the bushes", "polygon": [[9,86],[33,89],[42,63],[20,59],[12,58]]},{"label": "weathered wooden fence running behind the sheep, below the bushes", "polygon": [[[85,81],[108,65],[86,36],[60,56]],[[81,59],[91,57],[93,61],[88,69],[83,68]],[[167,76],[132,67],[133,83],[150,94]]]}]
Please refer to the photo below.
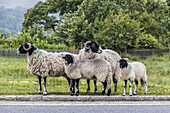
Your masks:
[{"label": "weathered wooden fence running behind the sheep, below the bushes", "polygon": [[[47,50],[48,52],[70,52],[73,54],[78,54],[79,50]],[[127,54],[133,56],[139,56],[140,58],[146,58],[152,55],[163,55],[170,52],[169,50],[157,50],[157,49],[132,49],[127,50]],[[26,55],[17,55],[16,49],[0,49],[0,56],[8,57],[25,57]]]}]

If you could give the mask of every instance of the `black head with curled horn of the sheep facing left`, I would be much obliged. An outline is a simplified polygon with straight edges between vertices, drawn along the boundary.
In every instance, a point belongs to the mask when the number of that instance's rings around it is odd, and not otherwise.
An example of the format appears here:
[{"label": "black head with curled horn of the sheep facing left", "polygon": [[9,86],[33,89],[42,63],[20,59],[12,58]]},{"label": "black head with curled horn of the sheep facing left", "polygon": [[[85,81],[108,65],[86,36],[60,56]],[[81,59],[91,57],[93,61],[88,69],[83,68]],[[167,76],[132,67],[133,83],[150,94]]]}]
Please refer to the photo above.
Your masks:
[{"label": "black head with curled horn of the sheep facing left", "polygon": [[31,43],[25,43],[24,45],[21,45],[18,49],[17,49],[17,54],[26,54],[29,53],[29,55],[32,54],[32,52],[34,50],[36,50],[37,48],[32,46]]}]

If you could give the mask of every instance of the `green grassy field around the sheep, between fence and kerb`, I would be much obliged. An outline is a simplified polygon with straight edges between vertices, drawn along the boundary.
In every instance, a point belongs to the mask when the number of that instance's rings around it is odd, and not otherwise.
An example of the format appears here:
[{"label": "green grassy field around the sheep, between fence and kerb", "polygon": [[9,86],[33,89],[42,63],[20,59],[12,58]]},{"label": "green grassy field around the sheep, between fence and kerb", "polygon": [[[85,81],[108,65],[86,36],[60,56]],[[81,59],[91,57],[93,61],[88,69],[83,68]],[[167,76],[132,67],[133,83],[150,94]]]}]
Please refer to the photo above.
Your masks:
[{"label": "green grassy field around the sheep, between fence and kerb", "polygon": [[[134,59],[130,59],[134,61]],[[136,59],[145,64],[148,76],[147,95],[170,95],[170,54],[164,56],[152,56],[147,59]],[[80,95],[100,95],[102,84],[98,84],[99,93],[94,94],[93,82],[91,81],[91,92],[86,94],[86,80],[80,81]],[[118,83],[118,91],[111,95],[123,94],[123,81]],[[133,87],[134,89],[134,84]],[[0,95],[27,95],[37,94],[38,79],[31,75],[27,69],[26,58],[12,58],[0,56]],[[47,79],[48,94],[70,95],[68,93],[67,80],[63,77],[50,77]],[[127,94],[129,89],[127,89]],[[144,95],[144,89],[139,85],[139,95]]]}]

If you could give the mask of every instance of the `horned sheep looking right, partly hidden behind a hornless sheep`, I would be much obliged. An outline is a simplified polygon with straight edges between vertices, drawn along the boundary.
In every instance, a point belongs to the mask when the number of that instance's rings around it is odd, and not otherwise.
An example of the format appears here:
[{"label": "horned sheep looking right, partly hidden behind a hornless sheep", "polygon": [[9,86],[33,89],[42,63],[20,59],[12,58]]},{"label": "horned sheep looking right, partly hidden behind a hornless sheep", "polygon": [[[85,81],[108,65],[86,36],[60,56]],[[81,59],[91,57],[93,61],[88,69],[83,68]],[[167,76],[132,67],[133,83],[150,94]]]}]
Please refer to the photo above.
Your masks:
[{"label": "horned sheep looking right, partly hidden behind a hornless sheep", "polygon": [[[84,48],[79,51],[78,57],[80,60],[87,59],[104,59],[107,60],[112,67],[113,82],[115,85],[114,92],[117,91],[117,82],[120,80],[121,72],[119,68],[118,60],[121,59],[118,53],[113,50],[105,49],[102,50],[101,47],[95,41],[87,41],[84,43]],[[88,89],[89,88],[88,84]],[[87,90],[88,90],[87,89]]]}]

